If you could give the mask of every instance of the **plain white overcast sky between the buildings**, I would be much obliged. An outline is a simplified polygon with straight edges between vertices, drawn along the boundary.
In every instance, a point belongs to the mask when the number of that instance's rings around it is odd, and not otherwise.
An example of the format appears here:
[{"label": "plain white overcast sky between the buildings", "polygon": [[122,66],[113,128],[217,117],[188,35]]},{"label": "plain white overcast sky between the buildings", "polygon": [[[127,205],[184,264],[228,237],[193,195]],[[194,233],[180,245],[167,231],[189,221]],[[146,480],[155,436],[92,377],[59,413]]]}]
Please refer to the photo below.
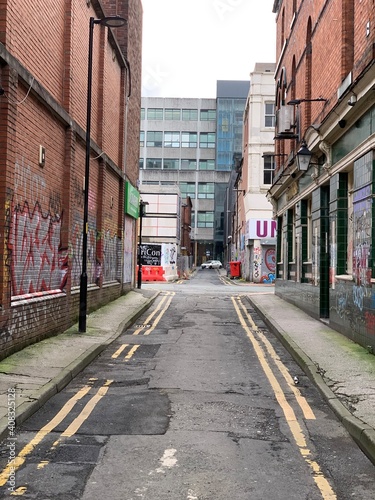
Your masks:
[{"label": "plain white overcast sky between the buildings", "polygon": [[142,96],[215,98],[275,62],[274,0],[142,0]]}]

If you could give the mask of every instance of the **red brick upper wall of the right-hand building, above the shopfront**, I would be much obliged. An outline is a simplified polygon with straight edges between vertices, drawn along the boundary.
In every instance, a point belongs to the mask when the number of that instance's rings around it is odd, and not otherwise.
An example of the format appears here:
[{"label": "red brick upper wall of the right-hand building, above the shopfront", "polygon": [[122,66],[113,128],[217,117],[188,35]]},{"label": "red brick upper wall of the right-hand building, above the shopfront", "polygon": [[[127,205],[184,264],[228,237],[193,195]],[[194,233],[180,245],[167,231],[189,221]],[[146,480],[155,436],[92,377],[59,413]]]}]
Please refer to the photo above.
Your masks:
[{"label": "red brick upper wall of the right-hand building, above the shopfront", "polygon": [[[374,32],[371,29],[367,36],[366,26],[368,22],[374,25],[375,14],[372,0],[304,0],[296,2],[296,7],[293,12],[292,0],[280,3],[276,79],[285,68],[287,100],[292,98],[292,93],[295,98],[327,99],[325,104],[312,102],[300,106],[303,137],[311,123],[320,123],[336,106],[337,90],[349,72],[352,71],[355,81],[373,61]],[[309,23],[310,46],[307,45]],[[310,71],[308,60],[311,61]],[[308,120],[305,120],[306,115]],[[285,144],[279,144],[278,152],[284,147]]]}]

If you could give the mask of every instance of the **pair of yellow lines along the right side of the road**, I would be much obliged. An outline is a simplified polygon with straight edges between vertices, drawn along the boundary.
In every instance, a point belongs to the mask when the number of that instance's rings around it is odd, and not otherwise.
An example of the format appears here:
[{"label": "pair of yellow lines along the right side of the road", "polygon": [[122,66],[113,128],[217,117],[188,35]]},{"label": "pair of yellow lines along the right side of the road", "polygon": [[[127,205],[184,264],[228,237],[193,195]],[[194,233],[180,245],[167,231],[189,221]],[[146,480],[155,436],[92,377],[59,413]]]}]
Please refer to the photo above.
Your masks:
[{"label": "pair of yellow lines along the right side of the road", "polygon": [[[310,449],[308,448],[307,445],[307,439],[305,437],[305,434],[302,430],[302,427],[300,423],[298,422],[298,418],[293,410],[293,408],[290,406],[290,404],[287,401],[287,398],[285,396],[285,393],[283,389],[281,388],[278,380],[276,379],[275,374],[272,371],[271,366],[269,365],[266,354],[264,352],[265,347],[268,355],[271,357],[271,359],[274,361],[276,364],[278,370],[280,371],[281,375],[284,377],[286,380],[288,386],[292,390],[296,401],[298,405],[300,406],[304,417],[307,420],[314,420],[315,415],[314,412],[312,411],[310,405],[306,401],[306,399],[301,395],[299,389],[295,387],[294,381],[286,368],[286,366],[281,362],[279,356],[277,355],[276,351],[272,347],[271,343],[269,340],[262,334],[262,332],[259,331],[257,325],[254,323],[251,315],[248,313],[247,309],[243,305],[241,301],[241,297],[231,297],[232,303],[234,306],[234,309],[237,313],[237,316],[240,320],[242,328],[245,330],[246,335],[250,342],[253,345],[254,351],[256,355],[258,356],[259,362],[261,367],[263,368],[263,371],[271,384],[271,387],[273,389],[273,392],[275,394],[276,400],[279,403],[286,422],[289,426],[289,429],[292,433],[293,439],[302,455],[304,458],[305,462],[308,464],[312,471],[312,476],[314,478],[314,481],[316,485],[318,486],[322,497],[324,500],[333,500],[336,499],[336,494],[332,490],[327,478],[324,476],[323,472],[320,469],[319,464],[312,459],[312,453]],[[258,339],[260,339],[261,342],[257,340],[255,337],[255,334],[257,335]],[[263,346],[261,345],[263,344]]]}]

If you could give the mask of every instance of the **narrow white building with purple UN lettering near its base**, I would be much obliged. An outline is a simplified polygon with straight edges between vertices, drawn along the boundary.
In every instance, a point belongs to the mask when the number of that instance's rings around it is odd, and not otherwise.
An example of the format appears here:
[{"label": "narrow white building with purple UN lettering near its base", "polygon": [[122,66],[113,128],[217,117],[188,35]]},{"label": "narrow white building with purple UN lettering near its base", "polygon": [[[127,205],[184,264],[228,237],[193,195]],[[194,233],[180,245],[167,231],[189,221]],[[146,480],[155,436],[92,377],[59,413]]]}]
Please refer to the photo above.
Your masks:
[{"label": "narrow white building with purple UN lettering near its base", "polygon": [[274,71],[274,63],[256,63],[250,74],[243,161],[235,184],[239,217],[233,257],[241,262],[242,277],[255,283],[272,283],[276,270],[276,221],[267,199],[275,167]]}]

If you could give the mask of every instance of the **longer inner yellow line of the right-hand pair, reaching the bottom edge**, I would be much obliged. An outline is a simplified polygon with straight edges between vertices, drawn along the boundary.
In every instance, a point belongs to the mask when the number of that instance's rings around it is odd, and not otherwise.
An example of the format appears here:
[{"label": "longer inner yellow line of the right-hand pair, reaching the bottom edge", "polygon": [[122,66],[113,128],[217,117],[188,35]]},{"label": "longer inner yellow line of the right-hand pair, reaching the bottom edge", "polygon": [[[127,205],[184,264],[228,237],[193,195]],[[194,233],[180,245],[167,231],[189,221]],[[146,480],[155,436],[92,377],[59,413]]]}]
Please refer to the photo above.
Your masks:
[{"label": "longer inner yellow line of the right-hand pair, reaching the bottom edge", "polygon": [[288,423],[289,429],[293,435],[294,441],[296,442],[299,451],[302,455],[302,457],[305,459],[305,462],[310,466],[313,472],[313,478],[318,486],[322,497],[324,500],[333,500],[336,499],[336,494],[332,490],[328,480],[325,478],[324,474],[320,470],[319,464],[310,458],[311,456],[311,451],[307,447],[306,439],[303,434],[302,428],[297,420],[297,417],[293,411],[293,408],[289,405],[289,403],[286,400],[285,394],[277,381],[274,373],[272,372],[271,367],[268,365],[266,357],[264,355],[262,347],[259,345],[258,341],[252,334],[251,330],[246,324],[246,321],[244,317],[241,314],[241,311],[238,307],[238,304],[236,303],[236,300],[234,297],[231,297],[233,306],[236,310],[238,319],[240,320],[242,328],[245,330],[247,337],[249,338],[250,342],[253,345],[254,351],[256,355],[258,356],[259,362],[263,368],[263,371],[268,378],[269,383],[271,384],[271,387],[273,389],[273,392],[276,396],[276,400],[279,403],[281,409],[284,412],[285,419]]}]

